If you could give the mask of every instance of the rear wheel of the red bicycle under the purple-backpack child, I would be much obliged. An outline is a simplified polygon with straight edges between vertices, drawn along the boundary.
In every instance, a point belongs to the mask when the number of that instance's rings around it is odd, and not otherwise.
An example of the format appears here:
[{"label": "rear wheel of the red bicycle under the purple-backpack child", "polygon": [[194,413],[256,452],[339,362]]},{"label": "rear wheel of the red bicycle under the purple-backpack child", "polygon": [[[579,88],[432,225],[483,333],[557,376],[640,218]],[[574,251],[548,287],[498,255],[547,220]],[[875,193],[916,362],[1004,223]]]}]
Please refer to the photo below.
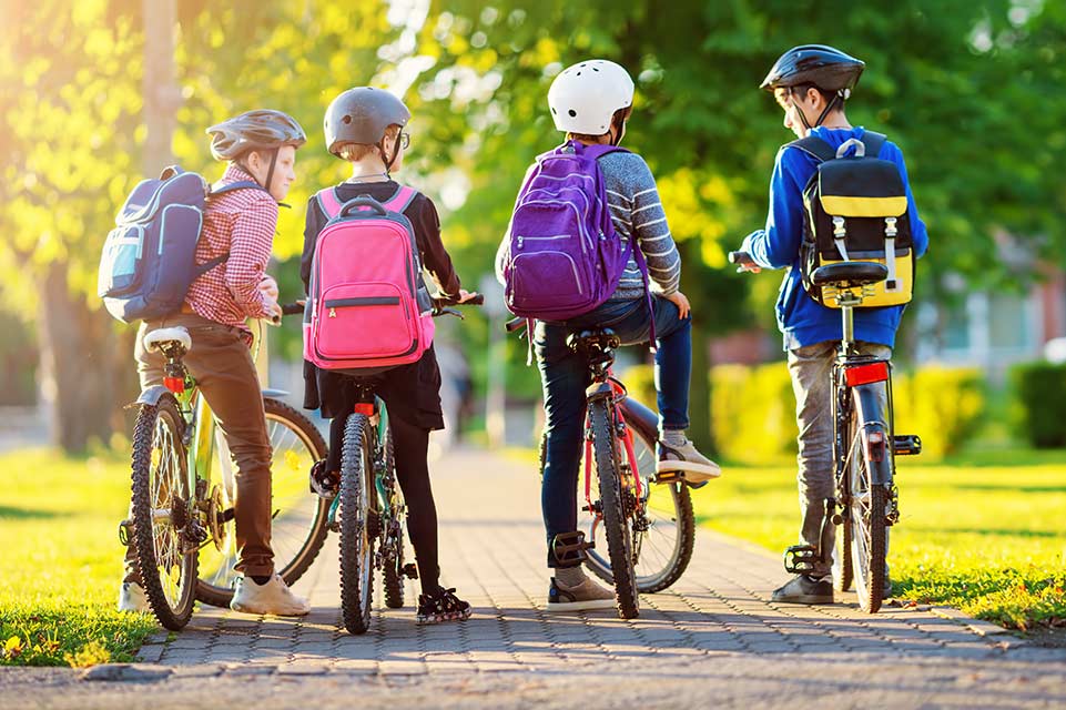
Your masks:
[{"label": "rear wheel of the red bicycle under the purple-backpack child", "polygon": [[628,486],[621,479],[618,439],[611,410],[602,399],[589,403],[589,420],[592,426],[592,456],[599,479],[600,510],[603,516],[603,537],[615,582],[618,615],[632,619],[640,613],[637,594],[637,575],[633,571],[633,530],[627,515]]}]

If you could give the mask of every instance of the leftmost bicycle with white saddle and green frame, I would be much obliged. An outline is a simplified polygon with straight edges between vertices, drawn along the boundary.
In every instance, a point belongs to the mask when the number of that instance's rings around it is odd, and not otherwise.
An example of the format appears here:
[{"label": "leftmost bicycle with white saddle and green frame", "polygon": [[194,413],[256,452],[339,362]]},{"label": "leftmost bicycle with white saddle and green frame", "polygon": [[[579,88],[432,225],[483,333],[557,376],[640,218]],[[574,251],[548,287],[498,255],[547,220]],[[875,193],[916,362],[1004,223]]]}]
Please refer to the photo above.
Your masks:
[{"label": "leftmost bicycle with white saddle and green frame", "polygon": [[[302,312],[300,304],[283,307],[286,315]],[[159,328],[144,342],[166,363],[163,384],[144,389],[133,405],[131,515],[119,537],[134,546],[155,618],[177,631],[194,601],[224,607],[233,598],[236,479],[211,406],[182,362],[192,347],[189,332]],[[273,448],[272,545],[278,574],[292,585],[325,541],[327,504],[309,494],[304,471],[325,457],[326,444],[314,424],[277,399],[285,394],[264,389],[263,405]]]}]

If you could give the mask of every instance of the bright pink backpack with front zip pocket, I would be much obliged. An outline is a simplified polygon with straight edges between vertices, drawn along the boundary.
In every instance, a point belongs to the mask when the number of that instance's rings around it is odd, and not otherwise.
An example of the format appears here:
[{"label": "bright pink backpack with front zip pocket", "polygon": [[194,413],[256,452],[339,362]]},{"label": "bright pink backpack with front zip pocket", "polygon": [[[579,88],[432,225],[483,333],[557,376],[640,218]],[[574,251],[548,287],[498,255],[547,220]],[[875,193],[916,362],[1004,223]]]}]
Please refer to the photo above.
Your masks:
[{"label": "bright pink backpack with front zip pocket", "polygon": [[380,203],[344,204],[335,187],[316,200],[329,219],[315,242],[304,308],[304,359],[367,376],[414,363],[433,343],[433,302],[404,210],[418,193],[400,185]]}]

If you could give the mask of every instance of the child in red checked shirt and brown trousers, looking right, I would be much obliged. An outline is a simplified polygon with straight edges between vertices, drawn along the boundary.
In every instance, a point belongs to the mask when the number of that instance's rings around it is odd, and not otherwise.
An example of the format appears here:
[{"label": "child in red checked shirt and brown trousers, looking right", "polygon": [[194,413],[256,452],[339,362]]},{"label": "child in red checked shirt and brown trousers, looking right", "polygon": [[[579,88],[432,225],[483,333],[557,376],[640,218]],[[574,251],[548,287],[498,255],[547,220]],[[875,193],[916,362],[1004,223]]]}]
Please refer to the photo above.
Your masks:
[{"label": "child in red checked shirt and brown trousers, looking right", "polygon": [[[274,243],[277,204],[296,179],[296,149],[303,129],[281,111],[242,113],[207,129],[211,153],[229,162],[214,185],[252,181],[262,189],[233,190],[211,197],[196,246],[196,263],[223,260],[189,287],[180,313],[141,324],[135,358],[141,387],[163,384],[165,357],[144,346],[144,335],[183,327],[192,338],[184,363],[195,377],[226,437],[236,464],[236,539],[240,562],[231,608],[248,613],[303,616],[311,610],[274,571],[271,549],[271,442],[255,364],[248,349],[247,318],[281,315],[277,284],[266,275]],[[148,611],[133,546],[119,609]]]}]

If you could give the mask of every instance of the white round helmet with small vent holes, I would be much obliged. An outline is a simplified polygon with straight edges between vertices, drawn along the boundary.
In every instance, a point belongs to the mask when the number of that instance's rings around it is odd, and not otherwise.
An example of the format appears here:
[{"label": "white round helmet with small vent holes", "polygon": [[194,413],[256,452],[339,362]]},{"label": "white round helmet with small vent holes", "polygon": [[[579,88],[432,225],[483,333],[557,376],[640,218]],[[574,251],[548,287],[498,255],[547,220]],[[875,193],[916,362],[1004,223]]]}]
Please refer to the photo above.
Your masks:
[{"label": "white round helmet with small vent holes", "polygon": [[633,104],[633,80],[612,61],[590,59],[567,67],[548,89],[556,129],[565,133],[602,135],[619,109]]}]

